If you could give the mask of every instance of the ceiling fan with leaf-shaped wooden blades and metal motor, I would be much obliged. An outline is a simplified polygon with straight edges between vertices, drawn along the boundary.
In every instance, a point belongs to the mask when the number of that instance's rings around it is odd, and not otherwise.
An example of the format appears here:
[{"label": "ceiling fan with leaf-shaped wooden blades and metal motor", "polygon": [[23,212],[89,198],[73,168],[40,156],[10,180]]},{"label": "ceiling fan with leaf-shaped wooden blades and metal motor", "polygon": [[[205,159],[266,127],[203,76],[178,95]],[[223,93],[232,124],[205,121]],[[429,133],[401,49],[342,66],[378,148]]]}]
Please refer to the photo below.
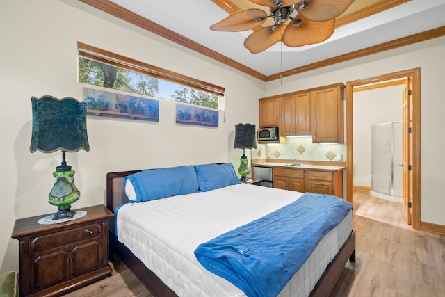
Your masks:
[{"label": "ceiling fan with leaf-shaped wooden blades and metal motor", "polygon": [[[272,17],[275,24],[250,34],[244,46],[257,54],[282,40],[288,47],[312,45],[330,38],[335,18],[345,12],[354,0],[249,0],[270,7],[270,15],[259,8],[232,13],[210,26],[213,31],[238,32],[254,29]],[[288,21],[289,24],[286,24]]]}]

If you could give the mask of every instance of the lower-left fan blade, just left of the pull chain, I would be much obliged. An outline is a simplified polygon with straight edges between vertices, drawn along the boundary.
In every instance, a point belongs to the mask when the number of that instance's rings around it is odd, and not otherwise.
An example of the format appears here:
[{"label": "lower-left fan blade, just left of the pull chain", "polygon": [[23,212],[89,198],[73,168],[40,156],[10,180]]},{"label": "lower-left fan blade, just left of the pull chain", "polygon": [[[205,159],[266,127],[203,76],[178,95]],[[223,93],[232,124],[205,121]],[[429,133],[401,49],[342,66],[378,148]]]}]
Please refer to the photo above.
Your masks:
[{"label": "lower-left fan blade, just left of the pull chain", "polygon": [[270,32],[270,29],[272,29],[273,26],[268,26],[255,31],[244,40],[244,46],[252,54],[264,51],[281,40],[284,31],[282,26],[283,25],[277,25],[277,28],[275,28],[275,31],[273,32]]}]

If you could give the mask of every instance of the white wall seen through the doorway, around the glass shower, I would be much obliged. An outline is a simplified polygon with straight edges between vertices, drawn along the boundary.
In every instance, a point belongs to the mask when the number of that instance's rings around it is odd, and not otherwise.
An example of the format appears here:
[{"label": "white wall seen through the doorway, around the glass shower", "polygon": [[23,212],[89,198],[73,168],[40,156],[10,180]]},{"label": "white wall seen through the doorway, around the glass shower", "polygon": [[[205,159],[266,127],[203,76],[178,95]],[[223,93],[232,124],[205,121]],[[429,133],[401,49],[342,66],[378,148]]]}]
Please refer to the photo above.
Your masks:
[{"label": "white wall seen through the doorway, around the glass shower", "polygon": [[403,85],[354,92],[354,185],[371,187],[371,126],[402,120]]}]

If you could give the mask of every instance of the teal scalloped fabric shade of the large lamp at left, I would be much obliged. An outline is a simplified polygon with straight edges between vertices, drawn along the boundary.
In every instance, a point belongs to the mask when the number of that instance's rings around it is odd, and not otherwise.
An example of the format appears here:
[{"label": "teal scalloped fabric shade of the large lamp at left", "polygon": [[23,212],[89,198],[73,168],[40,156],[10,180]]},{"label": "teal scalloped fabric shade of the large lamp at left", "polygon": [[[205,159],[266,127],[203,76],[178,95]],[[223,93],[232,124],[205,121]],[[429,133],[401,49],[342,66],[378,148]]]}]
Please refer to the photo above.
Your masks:
[{"label": "teal scalloped fabric shade of the large lamp at left", "polygon": [[52,96],[31,97],[33,132],[30,151],[89,151],[86,102]]}]

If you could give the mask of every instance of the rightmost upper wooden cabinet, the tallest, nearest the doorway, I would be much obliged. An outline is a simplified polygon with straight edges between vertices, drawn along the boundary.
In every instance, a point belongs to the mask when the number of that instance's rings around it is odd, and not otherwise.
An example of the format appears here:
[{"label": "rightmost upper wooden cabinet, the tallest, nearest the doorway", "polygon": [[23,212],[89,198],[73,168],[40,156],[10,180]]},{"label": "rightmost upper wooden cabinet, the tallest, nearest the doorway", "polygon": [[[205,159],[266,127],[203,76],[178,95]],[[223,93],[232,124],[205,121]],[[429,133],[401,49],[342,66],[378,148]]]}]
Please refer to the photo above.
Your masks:
[{"label": "rightmost upper wooden cabinet, the tallest, nearest the doorway", "polygon": [[314,90],[311,98],[313,143],[343,143],[343,83]]}]

